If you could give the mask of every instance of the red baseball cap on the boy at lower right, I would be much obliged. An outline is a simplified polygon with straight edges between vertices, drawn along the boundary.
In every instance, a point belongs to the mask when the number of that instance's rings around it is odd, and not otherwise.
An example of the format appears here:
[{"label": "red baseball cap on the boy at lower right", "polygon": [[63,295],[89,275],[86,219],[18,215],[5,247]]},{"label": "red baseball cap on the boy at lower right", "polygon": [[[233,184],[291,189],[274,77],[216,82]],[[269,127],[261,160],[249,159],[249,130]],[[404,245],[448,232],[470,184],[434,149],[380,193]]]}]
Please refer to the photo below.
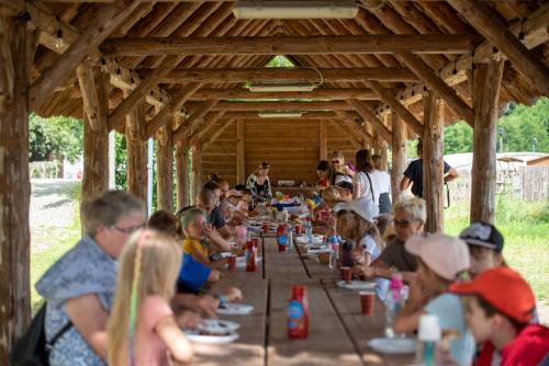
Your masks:
[{"label": "red baseball cap on the boy at lower right", "polygon": [[528,323],[536,298],[528,283],[509,267],[495,267],[478,275],[473,281],[457,283],[450,291],[460,295],[478,295],[507,317]]}]

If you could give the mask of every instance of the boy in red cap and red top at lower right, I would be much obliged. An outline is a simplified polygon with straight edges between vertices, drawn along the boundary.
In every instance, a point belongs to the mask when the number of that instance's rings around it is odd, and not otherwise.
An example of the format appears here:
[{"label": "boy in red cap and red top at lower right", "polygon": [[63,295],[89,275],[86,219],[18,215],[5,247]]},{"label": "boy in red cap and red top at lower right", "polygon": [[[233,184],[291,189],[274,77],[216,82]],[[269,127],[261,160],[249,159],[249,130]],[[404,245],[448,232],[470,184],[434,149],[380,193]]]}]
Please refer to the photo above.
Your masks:
[{"label": "boy in red cap and red top at lower right", "polygon": [[536,300],[517,272],[488,270],[472,282],[453,284],[450,291],[470,296],[467,322],[475,341],[484,343],[477,366],[537,366],[549,355],[549,329],[528,324]]}]

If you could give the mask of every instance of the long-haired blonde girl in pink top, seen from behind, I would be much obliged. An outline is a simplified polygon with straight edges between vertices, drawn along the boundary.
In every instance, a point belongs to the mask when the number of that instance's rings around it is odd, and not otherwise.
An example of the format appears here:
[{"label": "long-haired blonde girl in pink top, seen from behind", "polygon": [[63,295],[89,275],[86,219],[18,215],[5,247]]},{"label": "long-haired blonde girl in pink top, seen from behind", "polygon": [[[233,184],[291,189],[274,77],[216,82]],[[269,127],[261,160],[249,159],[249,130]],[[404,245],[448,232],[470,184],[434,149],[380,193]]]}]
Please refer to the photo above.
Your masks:
[{"label": "long-haired blonde girl in pink top, seen from behind", "polygon": [[130,238],[107,328],[109,365],[191,362],[191,345],[169,307],[181,256],[177,241],[158,231],[141,230]]}]

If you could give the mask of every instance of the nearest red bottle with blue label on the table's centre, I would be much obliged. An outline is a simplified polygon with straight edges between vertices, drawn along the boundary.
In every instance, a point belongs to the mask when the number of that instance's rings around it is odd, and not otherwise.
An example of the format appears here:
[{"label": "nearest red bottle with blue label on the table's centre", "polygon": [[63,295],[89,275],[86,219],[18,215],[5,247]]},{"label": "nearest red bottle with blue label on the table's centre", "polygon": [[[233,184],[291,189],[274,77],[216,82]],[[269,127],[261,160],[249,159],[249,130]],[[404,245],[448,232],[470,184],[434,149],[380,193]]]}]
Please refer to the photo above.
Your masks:
[{"label": "nearest red bottle with blue label on the table's centre", "polygon": [[309,335],[309,300],[305,286],[293,286],[288,304],[288,338],[303,340]]}]

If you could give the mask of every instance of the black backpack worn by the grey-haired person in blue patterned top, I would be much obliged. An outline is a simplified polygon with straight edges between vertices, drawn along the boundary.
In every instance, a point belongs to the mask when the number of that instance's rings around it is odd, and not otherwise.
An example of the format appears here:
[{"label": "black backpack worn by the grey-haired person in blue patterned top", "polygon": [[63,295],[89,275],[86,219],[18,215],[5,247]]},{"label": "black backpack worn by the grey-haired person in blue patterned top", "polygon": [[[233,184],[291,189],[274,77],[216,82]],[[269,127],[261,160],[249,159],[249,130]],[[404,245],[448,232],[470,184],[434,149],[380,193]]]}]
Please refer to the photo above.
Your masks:
[{"label": "black backpack worn by the grey-haired person in blue patterned top", "polygon": [[18,340],[15,346],[10,353],[11,366],[48,366],[49,352],[55,343],[67,332],[72,322],[65,324],[52,339],[46,341],[46,304],[44,304],[38,312],[34,316],[31,325],[25,333]]}]

